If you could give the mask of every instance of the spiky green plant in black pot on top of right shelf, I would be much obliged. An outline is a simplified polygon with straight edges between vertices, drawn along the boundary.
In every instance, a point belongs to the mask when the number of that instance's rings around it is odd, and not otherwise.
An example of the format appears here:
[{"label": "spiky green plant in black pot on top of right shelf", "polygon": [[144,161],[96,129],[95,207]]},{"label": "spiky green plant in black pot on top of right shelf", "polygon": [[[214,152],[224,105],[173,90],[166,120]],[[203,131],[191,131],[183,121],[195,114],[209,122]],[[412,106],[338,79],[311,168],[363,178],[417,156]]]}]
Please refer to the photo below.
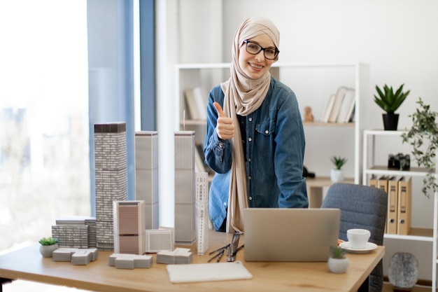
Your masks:
[{"label": "spiky green plant in black pot on top of right shelf", "polygon": [[374,95],[374,102],[386,111],[383,113],[383,128],[385,130],[397,130],[399,114],[395,113],[397,109],[402,105],[404,99],[409,95],[411,90],[403,92],[404,84],[400,85],[395,93],[393,87],[388,85],[383,86],[383,91],[376,85],[377,95]]}]

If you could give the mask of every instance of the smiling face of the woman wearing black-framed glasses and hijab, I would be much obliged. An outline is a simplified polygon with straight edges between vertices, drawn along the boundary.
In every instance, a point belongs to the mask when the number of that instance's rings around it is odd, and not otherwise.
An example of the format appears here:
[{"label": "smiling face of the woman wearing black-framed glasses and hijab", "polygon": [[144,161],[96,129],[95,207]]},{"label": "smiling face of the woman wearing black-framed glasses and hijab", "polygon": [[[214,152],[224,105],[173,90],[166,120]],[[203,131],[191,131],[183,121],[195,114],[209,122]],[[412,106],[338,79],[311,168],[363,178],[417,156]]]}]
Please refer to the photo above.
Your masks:
[{"label": "smiling face of the woman wearing black-framed glasses and hijab", "polygon": [[[260,34],[248,41],[259,44],[262,48],[275,48],[274,42],[267,34]],[[253,79],[258,79],[269,71],[275,60],[269,60],[264,57],[264,51],[260,50],[257,55],[252,55],[246,51],[246,44],[239,49],[239,66],[242,71]]]}]

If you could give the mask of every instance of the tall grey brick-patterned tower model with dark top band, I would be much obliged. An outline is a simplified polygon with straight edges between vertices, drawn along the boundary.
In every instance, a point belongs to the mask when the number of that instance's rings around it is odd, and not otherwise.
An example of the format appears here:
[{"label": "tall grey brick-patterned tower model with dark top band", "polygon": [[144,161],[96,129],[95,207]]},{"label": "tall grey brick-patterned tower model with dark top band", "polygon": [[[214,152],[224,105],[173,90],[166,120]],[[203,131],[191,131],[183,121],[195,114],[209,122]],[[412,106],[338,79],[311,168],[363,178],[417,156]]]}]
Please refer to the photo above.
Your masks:
[{"label": "tall grey brick-patterned tower model with dark top band", "polygon": [[113,201],[127,200],[126,123],[94,125],[97,249],[112,251]]}]

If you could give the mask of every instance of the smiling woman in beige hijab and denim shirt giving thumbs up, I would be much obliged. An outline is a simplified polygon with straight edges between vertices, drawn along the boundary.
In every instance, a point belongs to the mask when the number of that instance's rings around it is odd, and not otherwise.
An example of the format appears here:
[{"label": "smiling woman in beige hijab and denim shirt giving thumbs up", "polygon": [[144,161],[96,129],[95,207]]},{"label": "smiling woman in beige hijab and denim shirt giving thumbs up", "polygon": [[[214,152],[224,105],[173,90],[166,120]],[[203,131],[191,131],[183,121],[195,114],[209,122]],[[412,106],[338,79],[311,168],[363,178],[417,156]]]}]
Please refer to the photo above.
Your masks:
[{"label": "smiling woman in beige hijab and denim shirt giving thumbs up", "polygon": [[279,39],[270,20],[245,20],[234,35],[231,77],[209,93],[204,154],[216,172],[209,213],[218,231],[243,232],[248,207],[309,204],[297,98],[269,73]]}]

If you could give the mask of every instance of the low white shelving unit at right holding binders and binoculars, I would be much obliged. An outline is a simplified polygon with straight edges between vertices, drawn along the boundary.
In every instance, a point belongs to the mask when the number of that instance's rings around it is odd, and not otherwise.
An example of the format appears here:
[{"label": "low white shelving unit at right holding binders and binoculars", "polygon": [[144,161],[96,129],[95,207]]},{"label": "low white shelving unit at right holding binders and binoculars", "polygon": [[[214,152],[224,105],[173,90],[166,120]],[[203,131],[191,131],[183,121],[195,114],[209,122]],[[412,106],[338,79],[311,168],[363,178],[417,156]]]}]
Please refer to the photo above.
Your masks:
[{"label": "low white shelving unit at right holding binders and binoculars", "polygon": [[[365,130],[363,132],[363,171],[362,182],[367,184],[368,179],[373,174],[376,176],[412,176],[423,178],[428,169],[421,167],[410,167],[408,171],[399,171],[397,169],[388,169],[387,165],[376,165],[376,138],[389,137],[390,139],[401,139],[404,131],[385,131],[385,130]],[[409,235],[385,234],[385,238],[414,240],[418,242],[432,242],[432,291],[437,288],[437,228],[438,228],[438,194],[433,194],[433,225],[430,228],[411,228]],[[412,213],[415,211],[412,209]]]}]

